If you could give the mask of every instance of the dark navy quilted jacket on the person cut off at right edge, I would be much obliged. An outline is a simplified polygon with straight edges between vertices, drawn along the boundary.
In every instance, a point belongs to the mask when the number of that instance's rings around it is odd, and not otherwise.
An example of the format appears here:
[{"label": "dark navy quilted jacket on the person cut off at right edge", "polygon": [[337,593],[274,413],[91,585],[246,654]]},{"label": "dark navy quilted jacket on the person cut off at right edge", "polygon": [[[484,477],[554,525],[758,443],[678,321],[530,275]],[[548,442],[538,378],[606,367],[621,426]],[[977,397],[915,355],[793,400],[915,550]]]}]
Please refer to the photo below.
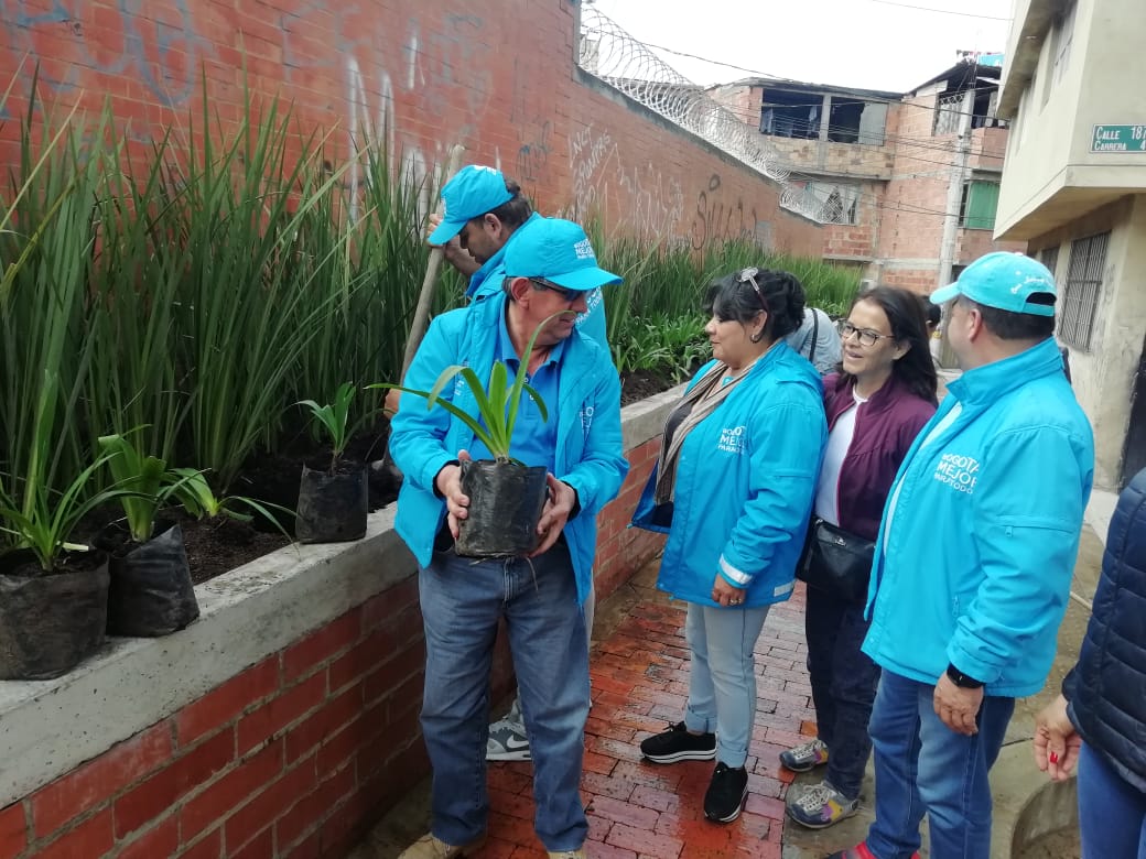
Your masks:
[{"label": "dark navy quilted jacket on the person cut off at right edge", "polygon": [[1146,470],[1118,496],[1078,664],[1062,681],[1086,744],[1146,794]]}]

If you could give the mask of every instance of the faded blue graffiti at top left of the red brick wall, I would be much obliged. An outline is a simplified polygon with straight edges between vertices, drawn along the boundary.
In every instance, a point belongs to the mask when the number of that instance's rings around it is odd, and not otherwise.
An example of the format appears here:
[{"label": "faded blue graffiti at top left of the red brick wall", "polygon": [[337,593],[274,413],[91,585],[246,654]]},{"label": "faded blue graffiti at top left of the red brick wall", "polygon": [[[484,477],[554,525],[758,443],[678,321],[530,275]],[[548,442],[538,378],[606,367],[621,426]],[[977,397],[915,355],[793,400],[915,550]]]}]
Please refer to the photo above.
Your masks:
[{"label": "faded blue graffiti at top left of the red brick wall", "polygon": [[38,73],[49,97],[77,93],[88,71],[131,78],[172,108],[199,86],[205,41],[187,0],[116,0],[101,18],[99,42],[85,30],[91,10],[78,0],[0,0],[0,11],[9,38],[28,46],[24,82]]}]

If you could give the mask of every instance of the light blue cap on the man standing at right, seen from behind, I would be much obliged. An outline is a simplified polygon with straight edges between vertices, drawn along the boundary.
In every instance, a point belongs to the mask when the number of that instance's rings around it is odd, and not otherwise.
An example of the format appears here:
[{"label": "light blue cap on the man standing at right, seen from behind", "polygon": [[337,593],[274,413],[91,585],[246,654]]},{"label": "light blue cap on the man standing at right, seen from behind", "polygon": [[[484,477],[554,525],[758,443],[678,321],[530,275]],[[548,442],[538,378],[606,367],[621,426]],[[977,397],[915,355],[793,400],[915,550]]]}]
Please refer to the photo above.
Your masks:
[{"label": "light blue cap on the man standing at right, seen from behind", "polygon": [[[943,305],[959,295],[1010,313],[1053,316],[1058,290],[1054,286],[1054,275],[1038,260],[1033,260],[1025,253],[996,251],[980,257],[963,269],[955,283],[935,290],[931,301],[933,305]],[[1043,302],[1033,302],[1030,299],[1035,295],[1046,295],[1050,301],[1044,299]]]}]

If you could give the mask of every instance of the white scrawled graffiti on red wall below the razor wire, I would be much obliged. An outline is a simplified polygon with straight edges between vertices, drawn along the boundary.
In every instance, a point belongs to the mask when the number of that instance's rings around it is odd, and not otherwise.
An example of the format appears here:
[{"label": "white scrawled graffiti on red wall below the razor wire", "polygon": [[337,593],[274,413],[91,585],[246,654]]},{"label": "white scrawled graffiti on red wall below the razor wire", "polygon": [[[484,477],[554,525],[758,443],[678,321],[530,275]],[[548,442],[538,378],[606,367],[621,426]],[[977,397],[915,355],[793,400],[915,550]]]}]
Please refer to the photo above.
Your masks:
[{"label": "white scrawled graffiti on red wall below the razor wire", "polygon": [[626,165],[607,131],[592,125],[570,137],[574,216],[627,211],[625,221],[641,235],[676,236],[684,218],[684,189],[651,161]]}]

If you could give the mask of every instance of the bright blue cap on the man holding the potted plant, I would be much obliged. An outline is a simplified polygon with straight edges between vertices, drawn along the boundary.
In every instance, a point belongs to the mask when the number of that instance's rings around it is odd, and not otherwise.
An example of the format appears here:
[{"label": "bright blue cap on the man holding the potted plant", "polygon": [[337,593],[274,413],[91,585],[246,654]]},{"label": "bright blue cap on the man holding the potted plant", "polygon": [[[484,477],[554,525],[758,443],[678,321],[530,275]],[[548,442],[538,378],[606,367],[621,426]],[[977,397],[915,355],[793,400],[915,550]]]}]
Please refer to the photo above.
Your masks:
[{"label": "bright blue cap on the man holding the potted plant", "polygon": [[581,226],[560,218],[541,218],[513,236],[505,245],[505,276],[542,277],[582,291],[622,279],[597,266],[597,254]]}]

